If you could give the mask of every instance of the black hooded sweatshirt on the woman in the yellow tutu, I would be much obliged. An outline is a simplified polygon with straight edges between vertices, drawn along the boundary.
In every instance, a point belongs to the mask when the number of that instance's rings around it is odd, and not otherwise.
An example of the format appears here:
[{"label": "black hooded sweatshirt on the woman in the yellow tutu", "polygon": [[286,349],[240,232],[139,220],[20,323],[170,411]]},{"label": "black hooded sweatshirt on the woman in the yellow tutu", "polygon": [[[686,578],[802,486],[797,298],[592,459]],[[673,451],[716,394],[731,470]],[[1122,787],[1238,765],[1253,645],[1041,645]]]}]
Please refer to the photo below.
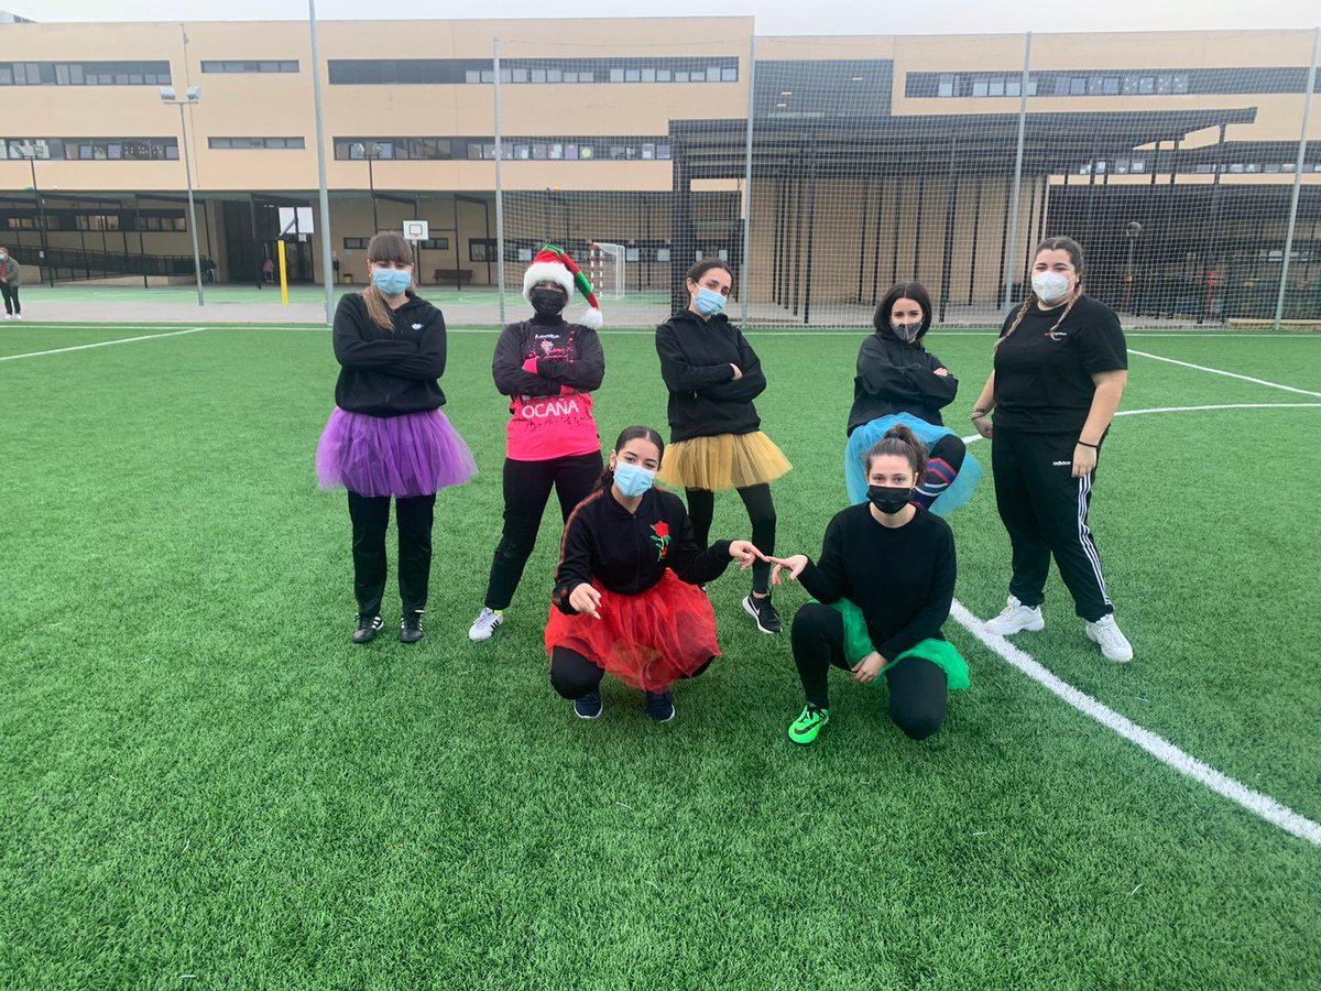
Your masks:
[{"label": "black hooded sweatshirt on the woman in the yellow tutu", "polygon": [[[766,390],[761,359],[729,317],[703,321],[682,311],[657,328],[660,377],[670,390],[670,440],[752,433],[761,427],[752,400]],[[734,379],[737,365],[742,378]]]}]

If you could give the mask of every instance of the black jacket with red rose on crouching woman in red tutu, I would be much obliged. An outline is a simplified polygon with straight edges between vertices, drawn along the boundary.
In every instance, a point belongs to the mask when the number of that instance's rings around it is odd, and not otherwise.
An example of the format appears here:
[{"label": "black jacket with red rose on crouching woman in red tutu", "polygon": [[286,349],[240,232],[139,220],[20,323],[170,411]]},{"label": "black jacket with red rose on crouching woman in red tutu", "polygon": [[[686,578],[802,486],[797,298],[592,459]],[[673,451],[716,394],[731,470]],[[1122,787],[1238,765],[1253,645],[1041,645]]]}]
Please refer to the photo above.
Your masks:
[{"label": "black jacket with red rose on crouching woman in red tutu", "polygon": [[564,527],[560,564],[551,601],[575,614],[569,593],[584,581],[618,595],[635,596],[655,585],[666,568],[690,585],[720,577],[729,567],[729,540],[701,550],[683,499],[664,489],[647,489],[637,513],[614,499],[610,486],[583,499]]}]

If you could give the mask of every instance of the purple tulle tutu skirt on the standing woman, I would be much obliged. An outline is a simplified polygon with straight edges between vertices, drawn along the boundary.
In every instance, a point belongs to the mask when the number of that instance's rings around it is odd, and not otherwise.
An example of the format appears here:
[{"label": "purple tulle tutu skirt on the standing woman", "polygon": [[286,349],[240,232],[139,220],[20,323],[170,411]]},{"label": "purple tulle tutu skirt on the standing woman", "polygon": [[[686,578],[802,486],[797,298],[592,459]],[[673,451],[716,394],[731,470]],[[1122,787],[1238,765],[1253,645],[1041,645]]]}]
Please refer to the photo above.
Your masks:
[{"label": "purple tulle tutu skirt on the standing woman", "polygon": [[322,489],[359,495],[432,495],[477,474],[468,444],[440,410],[403,416],[330,414],[317,444]]}]

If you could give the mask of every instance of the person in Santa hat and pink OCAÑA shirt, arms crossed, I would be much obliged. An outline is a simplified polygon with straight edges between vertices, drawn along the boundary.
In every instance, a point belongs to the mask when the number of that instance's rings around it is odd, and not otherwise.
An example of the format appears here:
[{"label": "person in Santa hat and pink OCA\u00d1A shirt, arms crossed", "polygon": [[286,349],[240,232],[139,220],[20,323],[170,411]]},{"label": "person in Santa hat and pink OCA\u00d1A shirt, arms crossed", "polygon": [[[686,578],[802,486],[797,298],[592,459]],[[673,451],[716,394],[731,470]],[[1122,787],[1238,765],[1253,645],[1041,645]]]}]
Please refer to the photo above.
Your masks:
[{"label": "person in Santa hat and pink OCA\u00d1A shirt, arms crossed", "polygon": [[[579,322],[561,316],[573,289],[588,299]],[[560,513],[569,513],[601,476],[601,437],[592,419],[592,391],[605,377],[605,354],[596,330],[601,309],[592,287],[567,254],[546,246],[523,275],[531,320],[510,324],[495,345],[495,387],[510,398],[505,448],[505,531],[495,546],[486,601],[468,630],[490,640],[505,621],[523,577],[542,514],[555,489]]]}]

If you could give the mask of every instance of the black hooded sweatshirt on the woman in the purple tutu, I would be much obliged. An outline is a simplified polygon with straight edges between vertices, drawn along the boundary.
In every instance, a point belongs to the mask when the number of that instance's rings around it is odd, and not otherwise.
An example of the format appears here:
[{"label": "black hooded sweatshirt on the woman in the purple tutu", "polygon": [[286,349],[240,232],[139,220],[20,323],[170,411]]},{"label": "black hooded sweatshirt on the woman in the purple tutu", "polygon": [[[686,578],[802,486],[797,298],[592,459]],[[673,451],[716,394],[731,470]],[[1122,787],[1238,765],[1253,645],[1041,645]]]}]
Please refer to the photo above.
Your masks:
[{"label": "black hooded sweatshirt on the woman in the purple tutu", "polygon": [[334,357],[339,381],[334,402],[341,410],[370,416],[439,410],[445,394],[436,381],[445,374],[445,317],[427,300],[408,293],[394,312],[394,333],[367,314],[362,293],[339,300],[334,314]]}]

